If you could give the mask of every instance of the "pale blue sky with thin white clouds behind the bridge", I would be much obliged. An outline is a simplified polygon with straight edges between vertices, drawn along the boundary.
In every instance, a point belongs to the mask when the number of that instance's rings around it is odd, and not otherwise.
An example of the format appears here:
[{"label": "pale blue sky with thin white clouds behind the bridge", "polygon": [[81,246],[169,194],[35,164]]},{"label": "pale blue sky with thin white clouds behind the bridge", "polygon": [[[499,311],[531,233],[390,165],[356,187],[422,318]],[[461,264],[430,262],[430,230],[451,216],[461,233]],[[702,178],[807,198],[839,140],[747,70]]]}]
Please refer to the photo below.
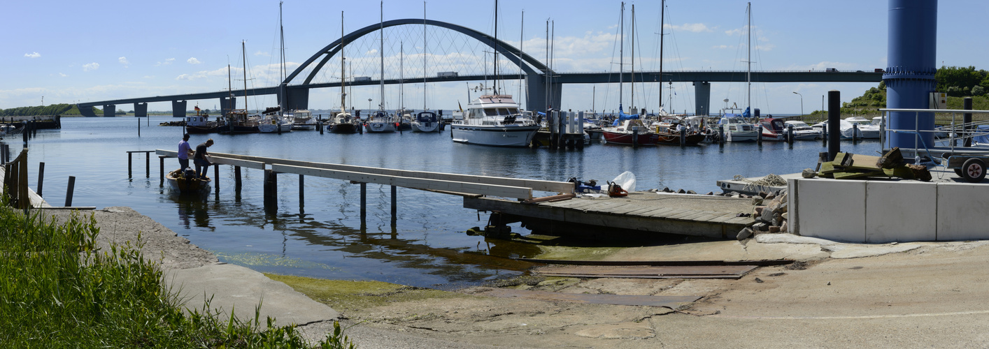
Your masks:
[{"label": "pale blue sky with thin white clouds behind the bridge", "polygon": [[[519,43],[520,17],[525,12],[523,49],[545,58],[546,20],[555,25],[554,65],[557,71],[616,71],[618,62],[617,25],[620,1],[518,1],[501,0],[498,8],[498,36]],[[659,1],[626,2],[625,23],[631,24],[635,4],[638,32],[636,70],[658,69]],[[753,1],[753,70],[871,70],[886,66],[888,4],[880,0],[858,1]],[[222,91],[227,88],[226,66],[242,74],[240,43],[246,40],[250,85],[276,85],[278,61],[277,1],[6,1],[0,10],[7,19],[0,64],[0,108],[24,105],[76,103],[112,99],[165,96]],[[667,2],[665,70],[745,70],[746,2],[729,0]],[[289,70],[297,68],[317,50],[340,35],[340,12],[345,12],[345,30],[350,33],[379,21],[377,1],[293,1],[284,4],[286,57]],[[422,18],[421,1],[386,1],[385,20]],[[494,32],[494,2],[434,0],[426,2],[427,18]],[[989,52],[980,28],[989,14],[989,2],[977,0],[941,1],[938,16],[937,59],[948,66],[975,66],[989,69]],[[11,29],[17,29],[11,30]],[[389,67],[398,71],[402,37],[405,77],[421,76],[421,42],[415,33],[421,28],[395,30],[386,38]],[[440,30],[436,30],[440,31]],[[630,30],[626,30],[626,41]],[[386,32],[388,35],[389,32]],[[439,32],[430,32],[432,35]],[[741,35],[740,35],[741,33]],[[401,36],[401,37],[400,37]],[[445,36],[444,36],[445,37]],[[464,44],[464,40],[451,40]],[[378,43],[367,38],[363,46],[348,51],[353,62],[375,62]],[[434,47],[437,42],[429,42]],[[625,47],[625,63],[630,48]],[[442,52],[430,48],[434,62],[457,50]],[[459,51],[458,59],[484,66],[480,51]],[[465,57],[464,55],[467,55]],[[335,63],[333,63],[335,64]],[[377,76],[365,64],[353,75]],[[491,65],[491,62],[488,62]],[[316,81],[338,80],[339,65],[320,72]],[[377,68],[374,68],[377,69]],[[428,74],[437,69],[429,68]],[[463,68],[467,73],[470,68]],[[515,71],[501,65],[502,71]],[[335,70],[335,71],[333,71]],[[389,76],[386,76],[389,77]],[[234,77],[234,89],[242,87]],[[321,79],[321,80],[320,80]],[[481,82],[430,84],[423,102],[421,84],[406,84],[405,106],[451,108],[467,103],[468,87]],[[636,105],[654,109],[659,105],[656,84],[636,86]],[[505,83],[508,93],[518,95],[515,82]],[[764,113],[809,112],[821,108],[821,97],[829,90],[842,92],[843,101],[875,84],[754,84],[753,105]],[[668,86],[669,87],[669,86]],[[674,84],[674,99],[667,109],[692,111],[692,87]],[[615,108],[618,91],[611,86],[570,85],[564,89],[564,108]],[[666,91],[669,91],[666,90]],[[629,87],[623,101],[629,102]],[[593,96],[593,98],[592,98]],[[354,89],[354,105],[367,107],[368,99],[377,105],[381,99],[375,88]],[[645,99],[645,100],[644,100]],[[712,109],[729,99],[744,105],[744,84],[713,83]],[[385,103],[399,106],[398,87],[389,87]],[[516,98],[516,100],[520,100]],[[522,99],[524,101],[524,99]],[[212,108],[217,101],[190,101]],[[275,105],[273,97],[248,102]],[[314,90],[312,108],[339,105],[338,91]],[[125,110],[133,105],[118,105]],[[151,104],[149,109],[167,110],[167,103]]]}]

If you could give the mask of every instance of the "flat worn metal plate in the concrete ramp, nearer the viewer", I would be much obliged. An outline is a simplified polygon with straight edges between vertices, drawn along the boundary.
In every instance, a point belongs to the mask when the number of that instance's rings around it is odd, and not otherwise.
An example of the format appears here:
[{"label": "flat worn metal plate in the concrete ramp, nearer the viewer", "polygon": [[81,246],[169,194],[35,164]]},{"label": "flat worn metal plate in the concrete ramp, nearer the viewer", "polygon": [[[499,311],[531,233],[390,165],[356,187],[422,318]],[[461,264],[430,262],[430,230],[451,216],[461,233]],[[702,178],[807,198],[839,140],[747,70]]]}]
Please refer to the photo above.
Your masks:
[{"label": "flat worn metal plate in the concrete ramp, nearer the viewer", "polygon": [[526,291],[515,289],[499,289],[478,287],[472,289],[473,294],[497,298],[518,298],[547,302],[572,302],[616,306],[649,306],[676,309],[683,304],[700,299],[699,296],[626,296],[626,295],[591,295],[571,294],[546,291]]}]

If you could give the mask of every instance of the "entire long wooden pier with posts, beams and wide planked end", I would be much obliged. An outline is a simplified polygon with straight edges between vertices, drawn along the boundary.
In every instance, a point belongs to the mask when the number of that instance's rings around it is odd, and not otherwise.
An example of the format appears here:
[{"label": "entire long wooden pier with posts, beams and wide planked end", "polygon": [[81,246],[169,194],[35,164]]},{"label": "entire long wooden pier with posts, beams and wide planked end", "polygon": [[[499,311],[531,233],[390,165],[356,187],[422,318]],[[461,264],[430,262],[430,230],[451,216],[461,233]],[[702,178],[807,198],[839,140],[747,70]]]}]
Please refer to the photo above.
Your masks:
[{"label": "entire long wooden pier with posts, beams and wide planked end", "polygon": [[[159,149],[155,154],[160,158],[164,180],[164,159],[174,158],[178,153]],[[393,224],[398,186],[459,195],[465,208],[496,213],[493,224],[498,227],[522,222],[534,232],[550,235],[639,233],[727,239],[753,223],[751,218],[738,217],[739,213],[752,210],[751,200],[744,198],[664,192],[571,198],[575,185],[567,181],[406,171],[223,153],[211,153],[211,161],[215,164],[214,174],[219,174],[216,170],[219,165],[234,167],[234,185],[238,190],[241,167],[264,171],[266,206],[269,198],[277,201],[273,199],[277,197],[278,174],[298,174],[300,179],[307,175],[336,178],[360,184],[362,221],[366,217],[366,184],[376,183],[392,186]],[[219,193],[219,180],[214,180],[214,185]],[[545,200],[547,196],[534,199],[534,192],[570,195]]]}]

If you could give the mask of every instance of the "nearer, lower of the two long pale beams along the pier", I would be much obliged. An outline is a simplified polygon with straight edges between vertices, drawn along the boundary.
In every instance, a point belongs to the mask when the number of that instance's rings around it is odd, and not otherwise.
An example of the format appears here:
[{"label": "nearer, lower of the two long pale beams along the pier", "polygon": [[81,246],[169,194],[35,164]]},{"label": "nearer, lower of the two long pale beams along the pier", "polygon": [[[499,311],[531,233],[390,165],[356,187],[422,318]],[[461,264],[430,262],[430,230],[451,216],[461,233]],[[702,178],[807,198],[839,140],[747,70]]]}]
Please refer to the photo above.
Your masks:
[{"label": "nearer, lower of the two long pale beams along the pier", "polygon": [[396,185],[396,186],[402,186],[413,189],[454,191],[454,192],[462,192],[462,193],[470,193],[470,194],[482,194],[482,195],[491,195],[491,196],[500,196],[500,197],[520,198],[520,199],[532,198],[532,188],[528,188],[528,187],[490,185],[490,184],[481,184],[481,183],[472,183],[472,182],[414,178],[414,177],[386,175],[386,174],[367,174],[367,173],[317,169],[311,167],[299,167],[299,166],[278,165],[278,164],[272,165],[271,170],[276,173],[313,175],[313,176],[351,180],[351,181],[364,182],[364,183]]}]

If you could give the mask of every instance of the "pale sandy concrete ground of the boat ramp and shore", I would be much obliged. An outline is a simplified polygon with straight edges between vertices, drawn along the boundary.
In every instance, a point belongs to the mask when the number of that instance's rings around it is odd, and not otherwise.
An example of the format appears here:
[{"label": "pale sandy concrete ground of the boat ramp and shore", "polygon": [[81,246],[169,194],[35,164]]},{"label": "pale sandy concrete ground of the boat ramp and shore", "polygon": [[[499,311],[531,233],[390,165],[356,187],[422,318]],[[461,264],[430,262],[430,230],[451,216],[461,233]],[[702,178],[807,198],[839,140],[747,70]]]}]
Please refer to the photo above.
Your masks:
[{"label": "pale sandy concrete ground of the boat ramp and shore", "polygon": [[[92,212],[101,245],[133,241],[165,268],[217,261],[213,253],[126,207]],[[64,219],[64,211],[45,215]],[[770,242],[765,240],[766,242]],[[806,243],[806,242],[804,242]],[[667,248],[667,249],[664,249]],[[341,312],[360,348],[985,347],[989,344],[986,242],[636,247],[612,258],[657,260],[671,250],[804,260],[739,280],[553,279],[556,292],[699,296],[677,309],[544,302],[471,295]],[[728,258],[726,258],[728,259]],[[302,328],[311,338],[331,322]]]}]

